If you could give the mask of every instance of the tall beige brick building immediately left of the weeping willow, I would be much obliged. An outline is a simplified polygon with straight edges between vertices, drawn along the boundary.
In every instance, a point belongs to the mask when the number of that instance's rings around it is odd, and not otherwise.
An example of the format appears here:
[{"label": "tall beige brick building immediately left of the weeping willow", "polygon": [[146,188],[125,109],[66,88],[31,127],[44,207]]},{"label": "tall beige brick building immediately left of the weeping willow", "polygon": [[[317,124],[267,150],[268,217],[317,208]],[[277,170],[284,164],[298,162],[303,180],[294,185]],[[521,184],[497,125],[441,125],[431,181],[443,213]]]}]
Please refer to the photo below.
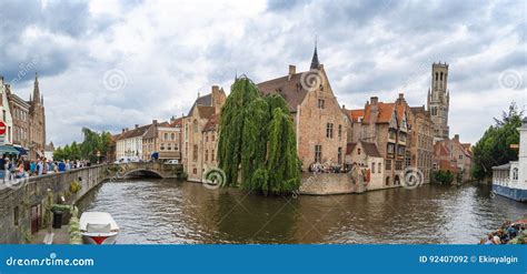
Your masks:
[{"label": "tall beige brick building immediately left of the weeping willow", "polygon": [[223,89],[196,99],[182,119],[182,164],[189,181],[201,182],[203,172],[217,164],[218,119],[227,100]]}]

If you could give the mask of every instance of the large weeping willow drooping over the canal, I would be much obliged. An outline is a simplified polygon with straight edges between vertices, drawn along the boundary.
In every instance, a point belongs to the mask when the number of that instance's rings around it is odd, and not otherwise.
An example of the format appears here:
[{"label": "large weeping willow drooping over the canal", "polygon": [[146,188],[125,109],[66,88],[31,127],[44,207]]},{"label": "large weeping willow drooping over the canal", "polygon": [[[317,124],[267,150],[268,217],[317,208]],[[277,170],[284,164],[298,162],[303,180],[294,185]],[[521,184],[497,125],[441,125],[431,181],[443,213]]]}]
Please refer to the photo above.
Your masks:
[{"label": "large weeping willow drooping over the canal", "polygon": [[261,97],[247,78],[235,81],[221,110],[219,166],[226,185],[238,181],[246,190],[287,194],[300,184],[296,136],[286,101]]}]

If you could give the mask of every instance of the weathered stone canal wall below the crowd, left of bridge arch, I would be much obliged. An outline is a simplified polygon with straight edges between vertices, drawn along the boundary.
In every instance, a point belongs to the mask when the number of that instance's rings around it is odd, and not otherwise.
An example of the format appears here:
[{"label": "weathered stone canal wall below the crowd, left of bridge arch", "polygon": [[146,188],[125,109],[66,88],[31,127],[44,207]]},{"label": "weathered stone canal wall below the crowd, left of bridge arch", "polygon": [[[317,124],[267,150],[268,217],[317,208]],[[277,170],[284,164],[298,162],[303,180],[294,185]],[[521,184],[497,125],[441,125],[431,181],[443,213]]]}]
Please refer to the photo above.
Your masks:
[{"label": "weathered stone canal wall below the crowd, left of bridge arch", "polygon": [[[40,206],[40,229],[47,206],[48,189],[54,194],[53,202],[60,195],[66,197],[68,204],[77,202],[91,189],[97,186],[110,175],[106,165],[97,165],[72,170],[63,173],[48,174],[30,177],[20,185],[8,187],[0,186],[0,243],[23,243],[31,234],[31,206]],[[70,184],[77,181],[81,189],[77,193],[70,192]],[[18,224],[14,212],[18,211]]]}]

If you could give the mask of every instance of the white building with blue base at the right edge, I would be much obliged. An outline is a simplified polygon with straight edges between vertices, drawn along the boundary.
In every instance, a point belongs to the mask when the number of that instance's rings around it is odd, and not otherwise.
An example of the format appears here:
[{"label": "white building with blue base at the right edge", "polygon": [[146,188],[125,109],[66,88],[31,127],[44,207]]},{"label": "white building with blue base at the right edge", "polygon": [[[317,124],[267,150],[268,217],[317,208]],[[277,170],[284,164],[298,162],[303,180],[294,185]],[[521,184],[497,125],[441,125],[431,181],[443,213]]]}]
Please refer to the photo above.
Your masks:
[{"label": "white building with blue base at the right edge", "polygon": [[519,131],[518,161],[493,168],[493,192],[519,202],[527,201],[527,116]]}]

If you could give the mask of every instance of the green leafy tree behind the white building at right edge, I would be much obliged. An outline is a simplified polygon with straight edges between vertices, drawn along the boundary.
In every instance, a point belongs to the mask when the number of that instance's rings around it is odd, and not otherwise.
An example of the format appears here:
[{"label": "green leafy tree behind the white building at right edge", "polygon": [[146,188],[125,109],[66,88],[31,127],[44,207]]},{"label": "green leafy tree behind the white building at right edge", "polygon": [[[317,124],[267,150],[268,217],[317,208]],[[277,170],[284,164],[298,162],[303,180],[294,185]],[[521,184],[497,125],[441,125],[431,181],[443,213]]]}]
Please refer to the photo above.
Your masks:
[{"label": "green leafy tree behind the white building at right edge", "polygon": [[485,134],[474,146],[473,176],[483,180],[493,175],[493,166],[516,161],[518,151],[510,149],[510,144],[519,143],[518,128],[521,126],[523,111],[513,102],[503,118],[495,119],[496,124],[485,131]]}]

